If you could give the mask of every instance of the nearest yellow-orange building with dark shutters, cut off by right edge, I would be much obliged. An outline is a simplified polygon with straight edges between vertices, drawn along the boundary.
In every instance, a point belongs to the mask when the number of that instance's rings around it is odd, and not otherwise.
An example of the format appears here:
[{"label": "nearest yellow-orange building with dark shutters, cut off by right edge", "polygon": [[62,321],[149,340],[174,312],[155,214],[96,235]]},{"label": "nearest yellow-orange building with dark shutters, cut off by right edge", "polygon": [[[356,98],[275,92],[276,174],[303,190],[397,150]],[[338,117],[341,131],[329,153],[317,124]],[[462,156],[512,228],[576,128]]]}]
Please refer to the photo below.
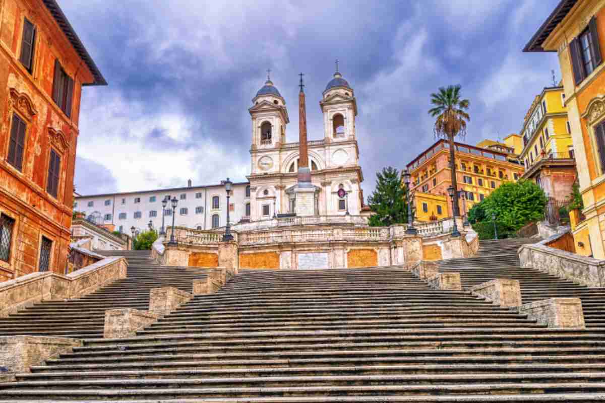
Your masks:
[{"label": "nearest yellow-orange building with dark shutters, cut off by right edge", "polygon": [[605,259],[605,1],[562,0],[523,51],[558,54],[584,202],[575,246]]}]

